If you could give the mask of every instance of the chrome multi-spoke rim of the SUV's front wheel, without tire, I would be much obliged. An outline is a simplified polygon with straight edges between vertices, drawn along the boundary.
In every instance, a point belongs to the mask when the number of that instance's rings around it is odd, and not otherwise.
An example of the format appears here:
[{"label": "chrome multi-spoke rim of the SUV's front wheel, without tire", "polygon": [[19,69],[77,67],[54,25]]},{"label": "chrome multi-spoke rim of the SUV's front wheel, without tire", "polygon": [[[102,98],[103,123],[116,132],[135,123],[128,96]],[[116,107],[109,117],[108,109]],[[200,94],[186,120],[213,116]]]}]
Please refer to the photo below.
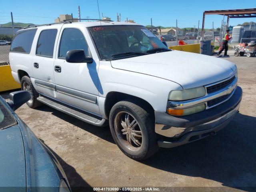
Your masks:
[{"label": "chrome multi-spoke rim of the SUV's front wheel, without tire", "polygon": [[137,151],[141,148],[142,132],[137,120],[130,113],[121,111],[116,114],[114,128],[118,140],[126,148]]}]

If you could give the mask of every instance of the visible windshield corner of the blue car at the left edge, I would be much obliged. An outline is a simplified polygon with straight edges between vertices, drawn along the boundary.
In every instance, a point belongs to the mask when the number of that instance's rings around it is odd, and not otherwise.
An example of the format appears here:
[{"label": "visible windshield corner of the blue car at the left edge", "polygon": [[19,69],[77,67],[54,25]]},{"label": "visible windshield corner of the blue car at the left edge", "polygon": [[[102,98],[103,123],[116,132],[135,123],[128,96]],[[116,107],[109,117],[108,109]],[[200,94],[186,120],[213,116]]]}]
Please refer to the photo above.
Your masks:
[{"label": "visible windshield corner of the blue car at the left edge", "polygon": [[16,120],[12,114],[0,102],[0,130],[8,128],[16,124]]}]

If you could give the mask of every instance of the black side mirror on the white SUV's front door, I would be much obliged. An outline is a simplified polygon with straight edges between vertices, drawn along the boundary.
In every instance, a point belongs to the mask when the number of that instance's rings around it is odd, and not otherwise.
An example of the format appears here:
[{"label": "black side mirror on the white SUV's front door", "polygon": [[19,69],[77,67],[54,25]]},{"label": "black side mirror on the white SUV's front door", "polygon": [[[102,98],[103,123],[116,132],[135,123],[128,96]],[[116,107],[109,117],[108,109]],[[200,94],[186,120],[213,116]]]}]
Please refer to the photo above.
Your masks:
[{"label": "black side mirror on the white SUV's front door", "polygon": [[66,61],[69,63],[92,63],[93,59],[91,57],[86,57],[84,50],[75,49],[69,50],[66,53]]}]

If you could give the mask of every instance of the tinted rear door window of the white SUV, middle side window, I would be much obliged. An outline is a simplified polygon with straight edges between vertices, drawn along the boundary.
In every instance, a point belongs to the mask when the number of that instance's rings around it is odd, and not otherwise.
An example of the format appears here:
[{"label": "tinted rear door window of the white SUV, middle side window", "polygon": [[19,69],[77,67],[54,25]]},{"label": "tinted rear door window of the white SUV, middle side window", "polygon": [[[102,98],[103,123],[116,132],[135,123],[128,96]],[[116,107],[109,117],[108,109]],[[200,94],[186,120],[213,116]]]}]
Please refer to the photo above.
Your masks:
[{"label": "tinted rear door window of the white SUV, middle side window", "polygon": [[36,46],[36,55],[52,57],[57,29],[43,30]]}]

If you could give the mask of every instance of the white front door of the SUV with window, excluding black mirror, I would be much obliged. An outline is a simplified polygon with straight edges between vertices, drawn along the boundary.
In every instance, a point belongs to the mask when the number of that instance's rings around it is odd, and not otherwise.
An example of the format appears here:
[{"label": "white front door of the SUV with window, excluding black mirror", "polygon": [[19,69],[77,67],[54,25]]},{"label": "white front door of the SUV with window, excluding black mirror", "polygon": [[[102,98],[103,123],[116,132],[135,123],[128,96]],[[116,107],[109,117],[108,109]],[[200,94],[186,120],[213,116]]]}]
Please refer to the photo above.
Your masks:
[{"label": "white front door of the SUV with window, excluding black mirror", "polygon": [[[84,28],[85,30],[85,28]],[[54,79],[58,100],[76,108],[99,114],[97,64],[66,62],[66,52],[82,49],[92,57],[82,30],[62,28],[54,62]]]}]

